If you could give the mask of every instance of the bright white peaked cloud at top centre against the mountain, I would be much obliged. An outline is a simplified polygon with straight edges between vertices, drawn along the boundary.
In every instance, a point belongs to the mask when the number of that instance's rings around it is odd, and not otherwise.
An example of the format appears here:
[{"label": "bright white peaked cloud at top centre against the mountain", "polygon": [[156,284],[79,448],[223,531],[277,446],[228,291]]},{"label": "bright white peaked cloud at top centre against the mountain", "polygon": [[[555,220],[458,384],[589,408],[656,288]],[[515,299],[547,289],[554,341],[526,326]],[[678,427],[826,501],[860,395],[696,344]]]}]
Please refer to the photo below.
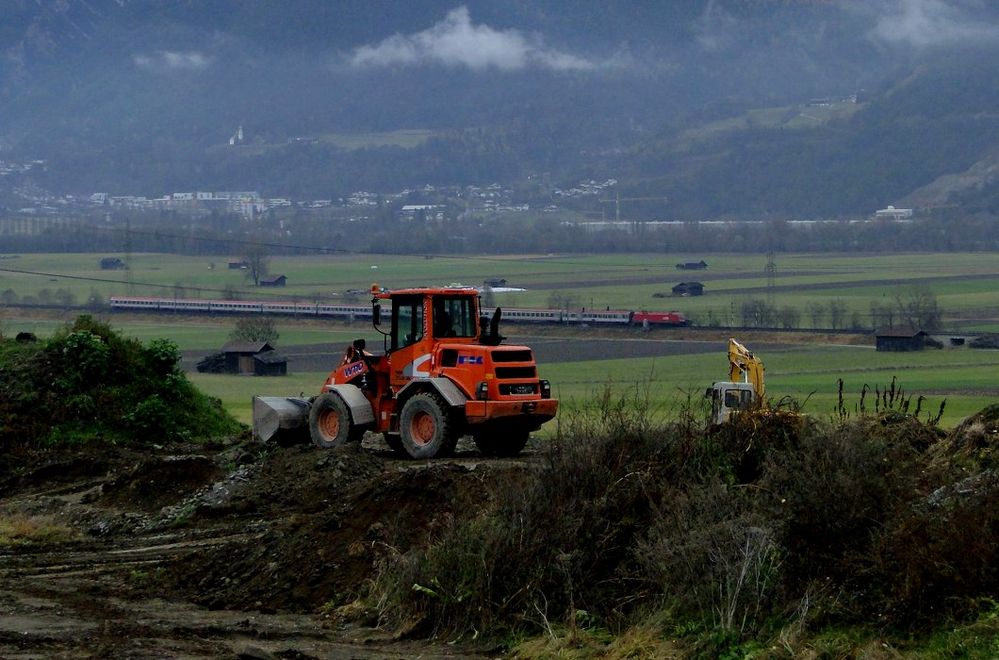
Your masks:
[{"label": "bright white peaked cloud at top centre against the mountain", "polygon": [[497,30],[473,24],[467,7],[448,12],[441,22],[413,34],[396,34],[380,43],[361,46],[349,62],[358,68],[437,64],[475,71],[495,68],[518,71],[529,67],[581,71],[598,64],[545,46],[539,37],[519,30]]}]

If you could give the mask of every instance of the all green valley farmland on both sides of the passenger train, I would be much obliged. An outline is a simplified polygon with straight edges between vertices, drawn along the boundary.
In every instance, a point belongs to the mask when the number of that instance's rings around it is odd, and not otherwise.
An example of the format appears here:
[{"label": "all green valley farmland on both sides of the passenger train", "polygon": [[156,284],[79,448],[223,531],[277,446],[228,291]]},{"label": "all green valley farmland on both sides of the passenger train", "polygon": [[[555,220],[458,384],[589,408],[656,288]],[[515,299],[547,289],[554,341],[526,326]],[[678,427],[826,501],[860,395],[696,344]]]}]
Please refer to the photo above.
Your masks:
[{"label": "all green valley farmland on both sides of the passenger train", "polygon": [[[273,257],[271,272],[288,277],[286,289],[255,289],[245,274],[226,267],[230,258],[165,254],[133,256],[131,276],[122,271],[102,271],[101,256],[93,254],[23,254],[0,259],[0,293],[13,291],[19,298],[37,298],[43,289],[68,289],[78,301],[96,291],[103,297],[121,295],[129,288],[136,295],[218,298],[229,289],[244,299],[273,298],[344,300],[348,289],[366,291],[372,282],[388,287],[481,284],[487,277],[506,278],[520,293],[496,293],[503,306],[547,306],[553,294],[568,296],[575,306],[612,309],[679,310],[700,320],[710,314],[725,325],[738,325],[739,307],[747,299],[766,297],[765,255],[508,255],[490,257],[400,257],[345,254],[313,257]],[[674,264],[708,262],[706,271],[679,271]],[[793,306],[801,326],[809,327],[807,305],[841,300],[848,312],[868,320],[872,304],[891,304],[894,296],[911,284],[929,287],[944,313],[946,332],[999,330],[999,254],[781,254],[776,258],[774,304]],[[212,267],[213,266],[213,267]],[[21,271],[21,272],[12,272]],[[129,281],[130,280],[130,281]],[[683,280],[704,282],[706,294],[696,298],[654,298]],[[335,295],[339,294],[339,295]],[[353,300],[365,304],[366,294]],[[75,310],[63,313],[71,319]],[[113,325],[142,340],[167,336],[183,350],[216,350],[231,330],[231,319],[199,317],[144,317],[112,315]],[[33,315],[0,307],[0,331],[21,330],[45,336],[61,325],[52,313]],[[355,336],[374,337],[369,328],[339,324],[279,320],[280,345],[346,343]],[[582,339],[581,339],[582,340]],[[750,348],[752,346],[750,345]],[[896,376],[908,391],[923,394],[923,408],[939,407],[946,398],[943,417],[953,424],[991,403],[999,387],[994,351],[944,350],[913,354],[882,354],[868,347],[807,344],[762,355],[767,364],[768,393],[807,399],[806,410],[831,413],[837,402],[837,379],[842,378],[848,408],[857,404],[864,384],[884,386]],[[656,360],[600,360],[542,365],[567,408],[585,406],[593,393],[608,383],[624,391],[642,383],[657,401],[668,404],[685,391],[703,391],[721,380],[725,355],[675,356]],[[195,376],[207,391],[220,397],[241,419],[249,419],[249,399],[258,390],[281,394],[314,391],[325,373],[295,374],[286,379],[253,379]],[[853,397],[851,400],[850,397]]]}]

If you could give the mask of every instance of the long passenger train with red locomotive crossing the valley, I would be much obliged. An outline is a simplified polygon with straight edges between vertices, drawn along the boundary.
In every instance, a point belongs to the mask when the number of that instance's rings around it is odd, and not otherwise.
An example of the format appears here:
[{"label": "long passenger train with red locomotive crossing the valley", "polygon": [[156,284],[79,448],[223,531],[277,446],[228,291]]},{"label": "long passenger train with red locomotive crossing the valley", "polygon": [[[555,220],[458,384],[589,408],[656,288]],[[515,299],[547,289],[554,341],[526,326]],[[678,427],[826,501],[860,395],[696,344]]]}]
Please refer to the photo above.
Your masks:
[{"label": "long passenger train with red locomotive crossing the valley", "polygon": [[[327,303],[248,301],[248,300],[194,300],[174,298],[137,298],[112,296],[111,309],[115,311],[183,312],[188,314],[281,314],[293,316],[318,316],[343,320],[370,320],[370,305],[333,305]],[[484,314],[493,310],[484,308]],[[640,325],[650,327],[686,326],[687,319],[680,312],[636,312],[628,310],[563,310],[503,308],[503,321],[509,323],[593,324],[607,326]]]}]

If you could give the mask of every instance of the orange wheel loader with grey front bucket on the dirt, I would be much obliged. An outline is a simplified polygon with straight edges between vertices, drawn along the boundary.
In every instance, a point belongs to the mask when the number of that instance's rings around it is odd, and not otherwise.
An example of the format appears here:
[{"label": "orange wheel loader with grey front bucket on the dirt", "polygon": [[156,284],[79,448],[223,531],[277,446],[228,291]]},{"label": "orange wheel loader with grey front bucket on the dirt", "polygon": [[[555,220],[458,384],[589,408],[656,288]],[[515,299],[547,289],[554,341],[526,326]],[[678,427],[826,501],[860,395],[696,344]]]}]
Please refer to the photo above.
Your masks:
[{"label": "orange wheel loader with grey front bucket on the dirt", "polygon": [[371,293],[383,354],[357,339],[317,396],[254,397],[255,437],[308,429],[317,446],[335,448],[372,431],[397,453],[432,458],[450,454],[470,434],[483,454],[515,456],[531,431],[555,416],[558,400],[538,378],[534,353],[502,345],[502,312],[481,316],[475,289],[374,285]]}]

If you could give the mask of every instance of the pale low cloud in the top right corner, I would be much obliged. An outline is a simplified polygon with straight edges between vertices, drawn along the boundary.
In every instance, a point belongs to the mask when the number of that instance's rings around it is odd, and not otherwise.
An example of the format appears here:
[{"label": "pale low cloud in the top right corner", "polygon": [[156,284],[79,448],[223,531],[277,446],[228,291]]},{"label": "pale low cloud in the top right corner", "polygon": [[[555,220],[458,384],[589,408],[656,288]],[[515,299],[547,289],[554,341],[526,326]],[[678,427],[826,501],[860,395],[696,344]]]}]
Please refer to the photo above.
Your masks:
[{"label": "pale low cloud in the top right corner", "polygon": [[870,36],[893,46],[925,48],[999,43],[999,25],[974,0],[893,0],[872,3]]}]

